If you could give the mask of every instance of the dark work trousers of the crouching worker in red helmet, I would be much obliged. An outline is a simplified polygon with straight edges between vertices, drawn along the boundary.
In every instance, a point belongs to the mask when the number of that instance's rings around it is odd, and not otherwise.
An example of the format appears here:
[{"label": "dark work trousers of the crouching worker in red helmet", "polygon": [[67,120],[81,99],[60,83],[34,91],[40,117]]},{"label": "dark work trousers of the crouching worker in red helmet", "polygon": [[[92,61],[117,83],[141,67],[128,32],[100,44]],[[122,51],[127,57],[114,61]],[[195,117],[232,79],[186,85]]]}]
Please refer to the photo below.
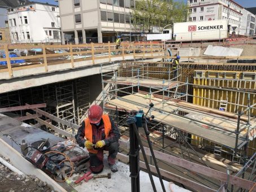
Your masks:
[{"label": "dark work trousers of the crouching worker in red helmet", "polygon": [[100,173],[100,172],[102,172],[102,170],[104,168],[104,165],[103,165],[103,151],[104,150],[109,151],[109,156],[107,158],[107,162],[109,162],[109,164],[114,164],[116,155],[118,154],[118,150],[119,150],[118,141],[104,146],[103,149],[98,150],[97,154],[92,154],[89,152],[90,170],[93,173]]}]

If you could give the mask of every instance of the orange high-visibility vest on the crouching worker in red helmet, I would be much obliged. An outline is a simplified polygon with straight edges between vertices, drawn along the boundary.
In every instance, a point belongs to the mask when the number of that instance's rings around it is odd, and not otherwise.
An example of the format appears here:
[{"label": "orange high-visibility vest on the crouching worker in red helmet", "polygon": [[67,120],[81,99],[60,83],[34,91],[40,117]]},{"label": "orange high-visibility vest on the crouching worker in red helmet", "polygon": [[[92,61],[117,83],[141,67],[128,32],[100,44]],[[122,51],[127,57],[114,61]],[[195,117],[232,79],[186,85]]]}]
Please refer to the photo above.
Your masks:
[{"label": "orange high-visibility vest on the crouching worker in red helmet", "polygon": [[[111,122],[110,122],[110,119],[109,119],[109,115],[102,115],[102,120],[103,120],[103,123],[104,123],[105,135],[106,135],[106,138],[107,138],[107,136],[109,136],[109,132],[111,130]],[[90,142],[93,142],[93,127],[90,124],[89,118],[85,119],[84,123],[85,123],[85,130],[84,130],[85,139],[90,141]],[[95,150],[95,149],[87,149],[87,150],[89,152],[91,152],[92,154],[97,154],[98,153],[98,150]]]}]

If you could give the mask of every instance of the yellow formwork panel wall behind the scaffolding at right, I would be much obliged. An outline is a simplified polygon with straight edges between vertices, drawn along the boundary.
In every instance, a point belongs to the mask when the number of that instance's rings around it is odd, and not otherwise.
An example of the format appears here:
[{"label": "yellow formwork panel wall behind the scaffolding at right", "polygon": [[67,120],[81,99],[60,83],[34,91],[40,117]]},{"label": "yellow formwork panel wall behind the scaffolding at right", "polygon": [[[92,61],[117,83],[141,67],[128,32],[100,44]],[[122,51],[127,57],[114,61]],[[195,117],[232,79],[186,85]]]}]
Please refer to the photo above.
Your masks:
[{"label": "yellow formwork panel wall behind the scaffolding at right", "polygon": [[[220,100],[227,100],[228,112],[244,111],[248,106],[248,93],[238,93],[232,90],[250,91],[250,104],[256,103],[256,72],[229,72],[229,71],[195,71],[193,87],[193,104],[219,109]],[[220,89],[210,89],[199,87],[197,85],[214,86]],[[242,106],[236,106],[236,104]],[[256,116],[256,110],[251,110],[251,115]],[[253,155],[256,149],[256,139],[249,143],[248,155]],[[214,143],[206,141],[198,136],[192,135],[192,144],[201,146],[213,146]],[[229,149],[225,151],[231,152]]]}]

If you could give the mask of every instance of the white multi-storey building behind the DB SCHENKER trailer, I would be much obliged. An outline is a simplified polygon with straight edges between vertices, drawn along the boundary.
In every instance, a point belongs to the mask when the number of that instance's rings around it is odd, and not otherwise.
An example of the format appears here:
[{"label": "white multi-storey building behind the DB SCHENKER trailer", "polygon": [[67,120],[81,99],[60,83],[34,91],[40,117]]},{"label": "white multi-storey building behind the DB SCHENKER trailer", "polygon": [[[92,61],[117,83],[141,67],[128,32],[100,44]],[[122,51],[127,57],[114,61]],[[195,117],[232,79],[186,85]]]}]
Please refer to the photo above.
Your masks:
[{"label": "white multi-storey building behind the DB SCHENKER trailer", "polygon": [[250,27],[255,25],[255,15],[233,0],[188,0],[188,5],[188,21],[226,19],[230,34],[249,36],[254,33]]}]

